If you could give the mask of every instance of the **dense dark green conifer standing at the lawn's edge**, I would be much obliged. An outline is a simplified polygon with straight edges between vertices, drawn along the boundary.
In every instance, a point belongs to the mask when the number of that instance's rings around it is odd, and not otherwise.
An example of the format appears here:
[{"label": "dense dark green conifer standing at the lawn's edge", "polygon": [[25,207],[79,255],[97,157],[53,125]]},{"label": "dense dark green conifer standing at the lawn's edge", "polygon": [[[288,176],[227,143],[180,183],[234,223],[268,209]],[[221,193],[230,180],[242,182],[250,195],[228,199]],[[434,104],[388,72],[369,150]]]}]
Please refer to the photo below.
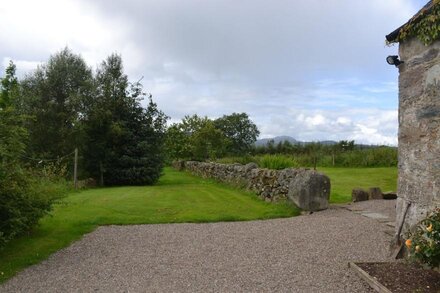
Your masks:
[{"label": "dense dark green conifer standing at the lawn's edge", "polygon": [[84,129],[86,168],[101,184],[153,184],[163,167],[167,117],[145,96],[140,83],[130,84],[122,58],[110,55],[96,75],[96,92]]}]

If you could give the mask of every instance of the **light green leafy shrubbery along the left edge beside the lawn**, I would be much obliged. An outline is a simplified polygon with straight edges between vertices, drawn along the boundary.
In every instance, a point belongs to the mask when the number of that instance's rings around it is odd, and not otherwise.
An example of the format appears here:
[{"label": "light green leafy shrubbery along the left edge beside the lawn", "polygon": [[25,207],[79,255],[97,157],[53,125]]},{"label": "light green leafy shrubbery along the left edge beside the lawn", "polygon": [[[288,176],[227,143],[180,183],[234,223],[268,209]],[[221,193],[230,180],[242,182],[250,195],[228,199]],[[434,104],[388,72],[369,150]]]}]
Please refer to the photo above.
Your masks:
[{"label": "light green leafy shrubbery along the left edge beside the lawn", "polygon": [[62,193],[42,174],[24,168],[28,133],[25,117],[13,104],[18,94],[15,65],[11,62],[0,88],[0,248],[33,228]]}]

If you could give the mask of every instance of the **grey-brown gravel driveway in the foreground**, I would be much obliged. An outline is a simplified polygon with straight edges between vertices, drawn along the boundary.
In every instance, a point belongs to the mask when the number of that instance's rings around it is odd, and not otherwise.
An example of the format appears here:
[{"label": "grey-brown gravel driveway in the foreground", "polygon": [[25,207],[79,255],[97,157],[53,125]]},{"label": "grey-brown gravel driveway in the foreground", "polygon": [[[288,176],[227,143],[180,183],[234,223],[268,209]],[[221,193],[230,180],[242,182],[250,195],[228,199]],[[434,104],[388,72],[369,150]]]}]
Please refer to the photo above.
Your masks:
[{"label": "grey-brown gravel driveway in the foreground", "polygon": [[347,263],[387,260],[385,229],[340,206],[266,221],[106,226],[0,292],[373,292]]}]

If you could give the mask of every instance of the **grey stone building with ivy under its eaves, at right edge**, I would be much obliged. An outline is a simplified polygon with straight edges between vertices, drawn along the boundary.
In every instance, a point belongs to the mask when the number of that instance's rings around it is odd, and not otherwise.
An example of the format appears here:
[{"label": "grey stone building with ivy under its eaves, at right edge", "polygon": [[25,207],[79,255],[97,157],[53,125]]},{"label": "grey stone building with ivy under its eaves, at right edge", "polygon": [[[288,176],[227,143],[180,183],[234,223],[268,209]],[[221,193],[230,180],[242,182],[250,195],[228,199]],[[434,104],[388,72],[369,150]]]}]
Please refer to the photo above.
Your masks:
[{"label": "grey stone building with ivy under its eaves, at right edge", "polygon": [[[399,43],[399,179],[396,232],[440,207],[440,1],[386,36]],[[402,63],[400,63],[402,62]],[[399,64],[400,63],[400,64]]]}]

